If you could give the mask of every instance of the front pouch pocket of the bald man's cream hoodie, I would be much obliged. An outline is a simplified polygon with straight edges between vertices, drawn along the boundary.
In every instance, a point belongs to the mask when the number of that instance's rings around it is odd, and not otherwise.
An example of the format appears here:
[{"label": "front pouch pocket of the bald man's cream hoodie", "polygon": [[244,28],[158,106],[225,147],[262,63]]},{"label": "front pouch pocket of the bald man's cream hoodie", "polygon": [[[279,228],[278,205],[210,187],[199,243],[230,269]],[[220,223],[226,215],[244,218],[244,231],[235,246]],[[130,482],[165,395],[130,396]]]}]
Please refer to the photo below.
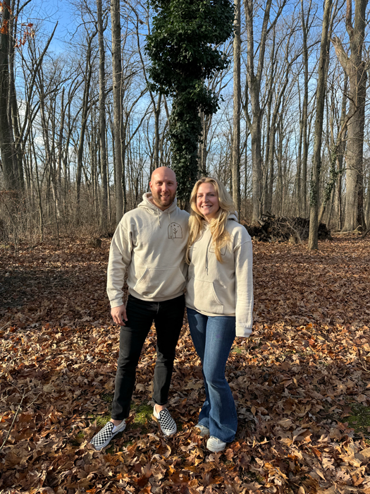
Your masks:
[{"label": "front pouch pocket of the bald man's cream hoodie", "polygon": [[133,289],[149,299],[171,299],[185,289],[185,278],[180,267],[147,267]]}]

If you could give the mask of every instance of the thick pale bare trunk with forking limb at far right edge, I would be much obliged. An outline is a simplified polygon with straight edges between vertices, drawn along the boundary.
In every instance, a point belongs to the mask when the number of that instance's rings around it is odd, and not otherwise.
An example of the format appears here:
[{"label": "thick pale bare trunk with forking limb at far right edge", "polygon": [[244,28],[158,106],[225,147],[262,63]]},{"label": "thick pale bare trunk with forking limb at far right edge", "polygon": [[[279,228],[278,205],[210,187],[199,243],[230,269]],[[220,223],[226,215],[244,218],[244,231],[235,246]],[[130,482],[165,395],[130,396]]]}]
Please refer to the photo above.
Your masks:
[{"label": "thick pale bare trunk with forking limb at far right edge", "polygon": [[335,53],[350,80],[350,115],[347,130],[347,152],[345,160],[346,200],[345,224],[343,229],[351,231],[359,225],[366,230],[363,205],[363,152],[364,123],[366,100],[366,64],[362,60],[364,32],[366,26],[366,6],[368,0],[356,0],[354,6],[354,25],[352,23],[352,1],[347,0],[346,30],[350,37],[350,56],[347,55],[342,42],[333,37]]}]

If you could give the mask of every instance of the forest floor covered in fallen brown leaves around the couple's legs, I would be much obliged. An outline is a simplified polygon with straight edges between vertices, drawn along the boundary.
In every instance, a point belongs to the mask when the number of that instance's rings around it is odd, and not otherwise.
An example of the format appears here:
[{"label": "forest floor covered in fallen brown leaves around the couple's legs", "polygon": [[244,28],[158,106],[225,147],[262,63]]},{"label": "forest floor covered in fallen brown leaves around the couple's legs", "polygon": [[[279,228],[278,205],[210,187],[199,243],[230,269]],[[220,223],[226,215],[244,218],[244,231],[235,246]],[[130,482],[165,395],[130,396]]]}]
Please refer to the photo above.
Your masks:
[{"label": "forest floor covered in fallen brown leaves around the couple's legs", "polygon": [[155,331],[125,432],[109,419],[118,329],[106,298],[109,241],[0,246],[0,494],[370,494],[370,239],[254,243],[254,331],[227,377],[238,433],[225,452],[195,433],[204,399],[186,319],[169,408],[152,418]]}]

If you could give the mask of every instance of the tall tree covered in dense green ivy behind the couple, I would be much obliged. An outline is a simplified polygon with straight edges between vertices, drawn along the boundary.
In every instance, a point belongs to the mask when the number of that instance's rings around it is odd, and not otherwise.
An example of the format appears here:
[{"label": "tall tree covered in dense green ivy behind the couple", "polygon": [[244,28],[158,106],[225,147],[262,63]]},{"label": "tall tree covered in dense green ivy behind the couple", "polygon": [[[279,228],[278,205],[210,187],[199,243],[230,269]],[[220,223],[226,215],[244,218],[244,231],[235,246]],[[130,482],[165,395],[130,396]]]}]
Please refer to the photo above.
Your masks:
[{"label": "tall tree covered in dense green ivy behind the couple", "polygon": [[217,49],[233,32],[234,7],[229,0],[149,0],[156,15],[146,51],[152,60],[152,90],[173,97],[170,119],[172,167],[178,198],[185,204],[197,180],[197,147],[202,126],[199,112],[214,114],[218,98],[206,78],[229,64]]}]

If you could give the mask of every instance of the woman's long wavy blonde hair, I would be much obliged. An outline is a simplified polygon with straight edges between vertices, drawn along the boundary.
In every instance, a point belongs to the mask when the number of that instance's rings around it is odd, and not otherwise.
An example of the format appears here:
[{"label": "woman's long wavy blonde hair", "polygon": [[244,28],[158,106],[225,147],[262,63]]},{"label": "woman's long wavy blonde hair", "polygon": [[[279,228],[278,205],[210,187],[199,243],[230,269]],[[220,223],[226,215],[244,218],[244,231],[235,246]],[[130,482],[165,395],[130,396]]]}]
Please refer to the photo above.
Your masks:
[{"label": "woman's long wavy blonde hair", "polygon": [[230,240],[230,234],[226,230],[226,222],[228,221],[228,215],[235,212],[233,199],[231,198],[226,187],[223,183],[219,182],[211,176],[202,177],[195,183],[190,195],[190,218],[189,218],[189,238],[187,240],[186,261],[190,263],[189,250],[192,244],[196,241],[197,236],[202,231],[205,218],[197,210],[197,193],[198,188],[202,183],[211,183],[216,191],[218,204],[220,209],[214,219],[211,219],[209,227],[211,229],[211,236],[214,244],[214,251],[216,253],[216,259],[222,263],[221,248]]}]

